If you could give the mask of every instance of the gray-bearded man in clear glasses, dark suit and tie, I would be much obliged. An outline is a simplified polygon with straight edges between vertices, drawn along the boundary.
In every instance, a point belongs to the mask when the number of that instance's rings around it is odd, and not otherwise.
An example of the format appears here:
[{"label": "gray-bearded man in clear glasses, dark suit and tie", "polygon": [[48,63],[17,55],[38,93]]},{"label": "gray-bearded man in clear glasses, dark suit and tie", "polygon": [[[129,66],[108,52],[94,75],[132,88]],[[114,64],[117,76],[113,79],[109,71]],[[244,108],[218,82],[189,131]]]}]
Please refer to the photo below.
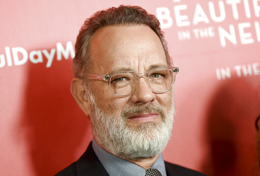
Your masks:
[{"label": "gray-bearded man in clear glasses, dark suit and tie", "polygon": [[172,132],[171,66],[158,20],[144,9],[96,12],[77,37],[71,92],[91,120],[93,140],[57,175],[203,175],[164,162]]}]

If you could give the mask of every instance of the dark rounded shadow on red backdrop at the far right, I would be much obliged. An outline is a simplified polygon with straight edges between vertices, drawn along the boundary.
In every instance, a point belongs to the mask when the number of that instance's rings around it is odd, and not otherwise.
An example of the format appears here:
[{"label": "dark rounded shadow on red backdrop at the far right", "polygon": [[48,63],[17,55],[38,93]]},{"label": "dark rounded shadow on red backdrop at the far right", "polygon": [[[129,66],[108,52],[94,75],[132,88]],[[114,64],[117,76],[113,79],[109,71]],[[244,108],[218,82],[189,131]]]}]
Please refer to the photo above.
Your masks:
[{"label": "dark rounded shadow on red backdrop at the far right", "polygon": [[210,99],[207,117],[208,175],[257,175],[256,130],[260,82],[256,77],[225,80]]}]

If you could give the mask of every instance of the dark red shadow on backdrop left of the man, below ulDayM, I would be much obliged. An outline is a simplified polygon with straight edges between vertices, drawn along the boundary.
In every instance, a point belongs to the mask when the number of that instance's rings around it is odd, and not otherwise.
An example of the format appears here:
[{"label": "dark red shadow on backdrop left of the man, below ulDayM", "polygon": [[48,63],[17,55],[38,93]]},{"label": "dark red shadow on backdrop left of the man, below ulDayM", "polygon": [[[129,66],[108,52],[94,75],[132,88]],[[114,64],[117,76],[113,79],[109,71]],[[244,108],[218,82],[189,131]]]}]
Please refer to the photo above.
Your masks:
[{"label": "dark red shadow on backdrop left of the man, below ulDayM", "polygon": [[46,62],[28,66],[20,128],[27,129],[25,140],[37,175],[54,175],[76,161],[91,139],[86,135],[89,120],[70,93],[71,60],[57,61],[55,54],[50,68]]}]

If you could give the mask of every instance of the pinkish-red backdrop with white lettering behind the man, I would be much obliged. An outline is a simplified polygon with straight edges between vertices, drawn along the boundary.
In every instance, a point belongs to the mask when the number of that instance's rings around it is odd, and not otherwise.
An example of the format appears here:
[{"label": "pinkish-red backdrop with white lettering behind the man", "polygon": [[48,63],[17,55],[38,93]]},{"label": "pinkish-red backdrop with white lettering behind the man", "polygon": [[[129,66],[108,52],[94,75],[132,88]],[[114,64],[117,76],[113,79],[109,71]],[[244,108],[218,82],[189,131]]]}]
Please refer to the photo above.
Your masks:
[{"label": "pinkish-red backdrop with white lettering behind the man", "polygon": [[0,175],[53,175],[90,142],[70,93],[78,30],[95,11],[156,15],[175,66],[167,161],[209,175],[255,175],[260,113],[260,1],[1,1]]}]

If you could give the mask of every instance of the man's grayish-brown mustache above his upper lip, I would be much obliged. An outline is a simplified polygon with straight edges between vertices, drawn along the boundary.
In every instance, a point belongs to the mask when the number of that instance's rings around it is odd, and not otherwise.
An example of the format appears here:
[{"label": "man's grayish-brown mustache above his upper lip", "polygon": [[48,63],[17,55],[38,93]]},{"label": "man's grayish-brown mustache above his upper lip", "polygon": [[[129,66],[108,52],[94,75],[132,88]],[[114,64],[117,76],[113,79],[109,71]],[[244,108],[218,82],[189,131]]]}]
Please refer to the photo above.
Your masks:
[{"label": "man's grayish-brown mustache above his upper lip", "polygon": [[132,107],[126,107],[121,112],[121,117],[123,119],[128,118],[129,116],[132,116],[134,114],[147,114],[147,113],[158,113],[160,114],[161,118],[164,120],[166,117],[166,111],[160,106],[157,105],[137,105]]}]

